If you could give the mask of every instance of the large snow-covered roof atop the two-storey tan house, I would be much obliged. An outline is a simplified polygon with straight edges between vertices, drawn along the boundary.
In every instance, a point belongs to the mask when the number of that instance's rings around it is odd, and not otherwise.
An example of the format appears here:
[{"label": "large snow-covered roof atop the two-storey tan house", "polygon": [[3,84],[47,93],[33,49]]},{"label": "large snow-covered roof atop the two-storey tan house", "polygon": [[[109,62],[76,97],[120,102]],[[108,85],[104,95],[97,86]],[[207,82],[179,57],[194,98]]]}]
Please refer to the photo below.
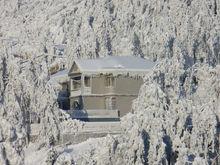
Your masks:
[{"label": "large snow-covered roof atop the two-storey tan house", "polygon": [[97,59],[76,59],[82,73],[94,72],[146,72],[155,62],[135,56],[107,56]]}]

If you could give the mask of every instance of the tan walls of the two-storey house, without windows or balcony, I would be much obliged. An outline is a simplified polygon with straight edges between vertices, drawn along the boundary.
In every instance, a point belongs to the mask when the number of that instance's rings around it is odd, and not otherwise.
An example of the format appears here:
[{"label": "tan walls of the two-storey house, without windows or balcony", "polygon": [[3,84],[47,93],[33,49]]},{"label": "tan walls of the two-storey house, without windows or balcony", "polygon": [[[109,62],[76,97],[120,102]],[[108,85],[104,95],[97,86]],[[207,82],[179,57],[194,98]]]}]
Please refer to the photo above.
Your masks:
[{"label": "tan walls of the two-storey house, without windows or balcony", "polygon": [[116,109],[119,110],[120,116],[124,116],[131,111],[132,100],[134,100],[139,92],[140,86],[143,84],[141,78],[132,77],[115,77],[114,87],[105,86],[105,76],[91,77],[91,94],[70,98],[70,106],[73,108],[73,102],[82,101],[82,108],[86,110],[103,110],[106,109],[106,98],[116,98]]}]

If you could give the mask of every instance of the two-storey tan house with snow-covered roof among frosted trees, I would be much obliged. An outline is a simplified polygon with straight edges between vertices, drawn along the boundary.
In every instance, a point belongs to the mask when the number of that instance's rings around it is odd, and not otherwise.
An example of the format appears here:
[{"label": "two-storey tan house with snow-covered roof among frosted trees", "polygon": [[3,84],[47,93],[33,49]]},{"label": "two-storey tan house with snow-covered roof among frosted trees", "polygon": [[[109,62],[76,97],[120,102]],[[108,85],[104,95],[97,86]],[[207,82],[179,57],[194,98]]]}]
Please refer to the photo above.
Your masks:
[{"label": "two-storey tan house with snow-covered roof among frosted trees", "polygon": [[[68,73],[74,118],[118,118],[131,110],[143,76],[155,63],[134,56],[76,59]],[[82,113],[83,112],[83,113]]]}]

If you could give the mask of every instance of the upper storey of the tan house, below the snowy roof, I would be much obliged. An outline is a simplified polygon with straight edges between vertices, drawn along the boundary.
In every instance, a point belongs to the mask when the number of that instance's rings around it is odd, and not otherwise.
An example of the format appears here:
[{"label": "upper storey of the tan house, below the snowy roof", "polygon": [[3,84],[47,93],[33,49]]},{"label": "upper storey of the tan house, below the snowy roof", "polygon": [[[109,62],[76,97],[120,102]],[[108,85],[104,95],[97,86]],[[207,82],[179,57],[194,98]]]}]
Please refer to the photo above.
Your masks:
[{"label": "upper storey of the tan house, below the snowy roof", "polygon": [[137,95],[141,77],[76,74],[70,77],[70,97],[79,95]]}]

